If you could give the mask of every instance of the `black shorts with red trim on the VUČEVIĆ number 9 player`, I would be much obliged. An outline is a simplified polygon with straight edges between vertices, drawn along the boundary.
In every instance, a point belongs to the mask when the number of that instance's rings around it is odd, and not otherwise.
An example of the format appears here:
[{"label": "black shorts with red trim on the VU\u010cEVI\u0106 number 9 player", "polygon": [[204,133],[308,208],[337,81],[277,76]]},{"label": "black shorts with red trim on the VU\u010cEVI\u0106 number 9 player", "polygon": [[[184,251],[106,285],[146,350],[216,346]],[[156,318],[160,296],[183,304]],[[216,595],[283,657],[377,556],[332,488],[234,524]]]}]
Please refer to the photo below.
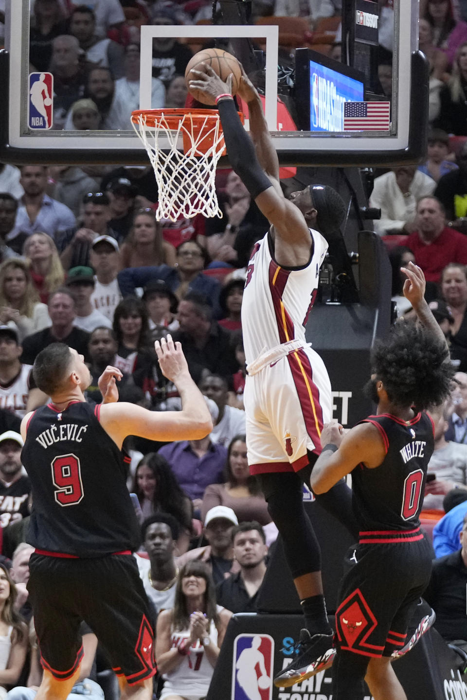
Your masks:
[{"label": "black shorts with red trim on the VU\u010cEVI\u0106 number 9 player", "polygon": [[83,657],[84,620],[130,685],[155,674],[148,598],[130,554],[69,559],[32,554],[29,600],[41,662],[57,680],[74,674]]}]

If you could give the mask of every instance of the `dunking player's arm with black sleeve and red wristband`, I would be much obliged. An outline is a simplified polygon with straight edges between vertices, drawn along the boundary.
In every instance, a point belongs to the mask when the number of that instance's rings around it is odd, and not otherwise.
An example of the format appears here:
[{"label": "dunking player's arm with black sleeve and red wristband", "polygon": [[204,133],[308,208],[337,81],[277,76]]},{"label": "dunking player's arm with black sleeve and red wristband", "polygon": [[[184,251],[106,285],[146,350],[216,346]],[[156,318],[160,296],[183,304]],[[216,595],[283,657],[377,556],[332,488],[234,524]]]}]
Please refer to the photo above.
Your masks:
[{"label": "dunking player's arm with black sleeve and red wristband", "polygon": [[309,260],[311,246],[305,218],[298,207],[286,200],[279,183],[273,177],[267,177],[261,168],[253,141],[244,130],[237,114],[235,102],[231,97],[231,76],[229,76],[227,83],[223,83],[210,66],[206,66],[206,71],[206,73],[191,71],[197,79],[190,80],[190,90],[204,92],[208,98],[207,102],[216,100],[230,165],[242,179],[260,211],[274,225],[276,234],[291,246],[302,244],[304,259],[287,263],[302,265]]}]

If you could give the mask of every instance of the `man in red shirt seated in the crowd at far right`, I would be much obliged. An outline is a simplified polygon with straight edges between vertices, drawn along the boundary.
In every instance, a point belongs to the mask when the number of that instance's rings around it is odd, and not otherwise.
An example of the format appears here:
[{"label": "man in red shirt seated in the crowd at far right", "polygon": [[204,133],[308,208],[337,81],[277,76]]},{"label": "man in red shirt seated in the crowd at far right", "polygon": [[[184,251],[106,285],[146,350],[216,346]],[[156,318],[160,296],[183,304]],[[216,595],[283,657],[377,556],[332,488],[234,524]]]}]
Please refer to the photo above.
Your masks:
[{"label": "man in red shirt seated in the crowd at far right", "polygon": [[419,200],[414,225],[405,245],[414,253],[427,282],[439,282],[448,262],[466,265],[467,238],[446,226],[445,210],[439,200],[435,197]]}]

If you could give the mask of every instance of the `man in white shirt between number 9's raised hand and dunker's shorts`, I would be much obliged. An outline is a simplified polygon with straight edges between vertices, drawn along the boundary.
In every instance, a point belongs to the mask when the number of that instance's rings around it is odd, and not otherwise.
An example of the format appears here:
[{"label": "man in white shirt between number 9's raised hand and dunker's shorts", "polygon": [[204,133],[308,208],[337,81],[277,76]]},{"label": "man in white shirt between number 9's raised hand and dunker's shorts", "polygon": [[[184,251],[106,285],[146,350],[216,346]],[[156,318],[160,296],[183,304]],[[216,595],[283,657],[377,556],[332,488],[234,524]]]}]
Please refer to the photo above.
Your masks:
[{"label": "man in white shirt between number 9's raised hand and dunker's shorts", "polygon": [[214,401],[219,411],[214,428],[209,434],[211,442],[228,447],[235,435],[245,432],[245,412],[228,406],[228,382],[220,374],[209,374],[202,380],[200,389],[207,398]]}]

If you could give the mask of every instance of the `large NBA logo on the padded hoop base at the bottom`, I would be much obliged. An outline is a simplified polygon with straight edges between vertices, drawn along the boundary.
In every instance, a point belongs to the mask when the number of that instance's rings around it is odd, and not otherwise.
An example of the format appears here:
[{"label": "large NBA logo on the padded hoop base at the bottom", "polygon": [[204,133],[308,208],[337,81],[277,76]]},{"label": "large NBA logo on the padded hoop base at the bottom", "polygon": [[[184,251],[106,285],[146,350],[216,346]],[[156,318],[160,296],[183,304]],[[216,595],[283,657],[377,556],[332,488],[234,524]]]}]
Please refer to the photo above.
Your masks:
[{"label": "large NBA logo on the padded hoop base at the bottom", "polygon": [[231,700],[271,700],[274,640],[269,634],[235,638]]}]

